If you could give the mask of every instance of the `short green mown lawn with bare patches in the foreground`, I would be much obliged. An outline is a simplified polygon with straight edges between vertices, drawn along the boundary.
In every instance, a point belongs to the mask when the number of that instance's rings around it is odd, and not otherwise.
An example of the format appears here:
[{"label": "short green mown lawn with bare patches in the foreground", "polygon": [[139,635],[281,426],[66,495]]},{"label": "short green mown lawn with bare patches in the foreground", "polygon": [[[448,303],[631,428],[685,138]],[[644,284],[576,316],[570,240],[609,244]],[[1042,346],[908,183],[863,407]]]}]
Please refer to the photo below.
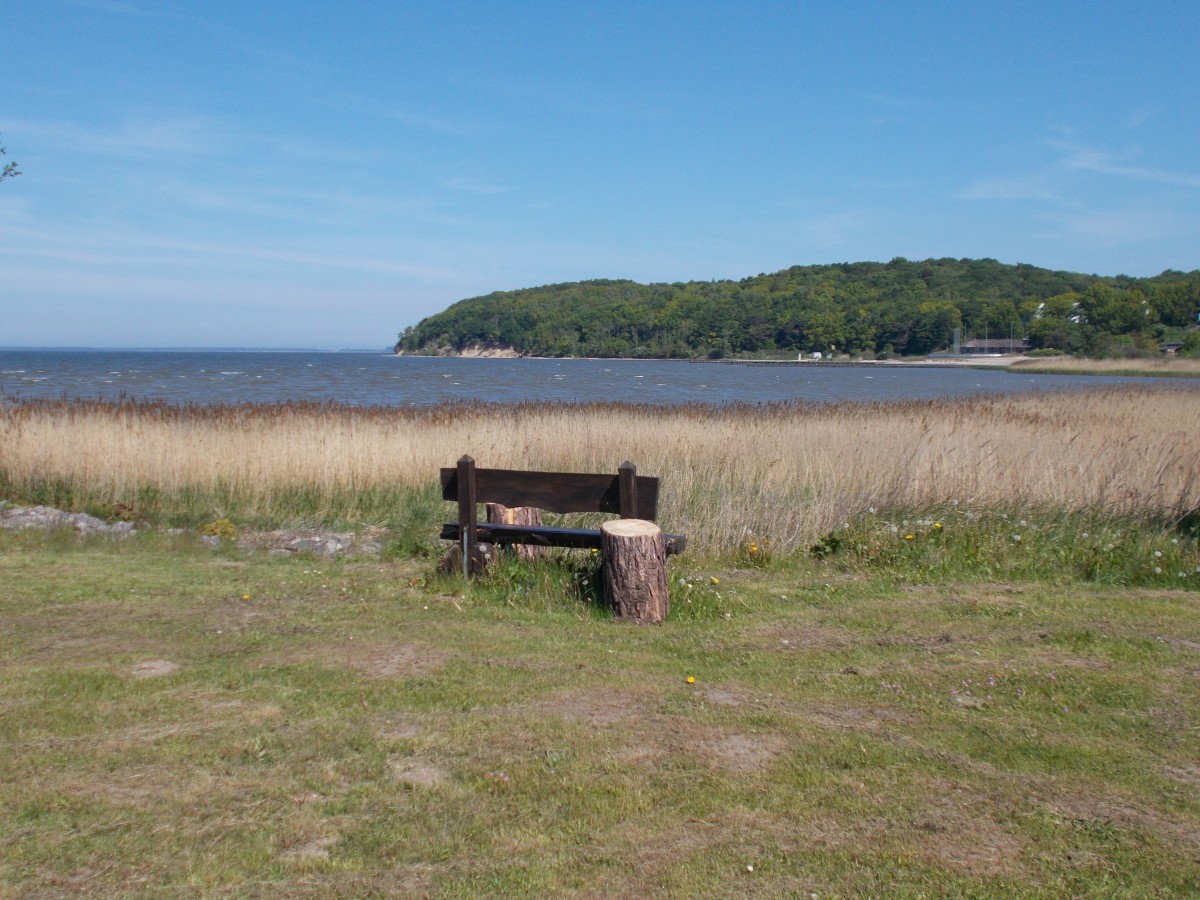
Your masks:
[{"label": "short green mown lawn with bare patches in the foreground", "polygon": [[1001,515],[685,554],[659,628],[586,554],[464,586],[398,545],[0,533],[0,884],[1195,895],[1200,576],[1144,559],[1194,535],[1060,560],[1087,523]]}]

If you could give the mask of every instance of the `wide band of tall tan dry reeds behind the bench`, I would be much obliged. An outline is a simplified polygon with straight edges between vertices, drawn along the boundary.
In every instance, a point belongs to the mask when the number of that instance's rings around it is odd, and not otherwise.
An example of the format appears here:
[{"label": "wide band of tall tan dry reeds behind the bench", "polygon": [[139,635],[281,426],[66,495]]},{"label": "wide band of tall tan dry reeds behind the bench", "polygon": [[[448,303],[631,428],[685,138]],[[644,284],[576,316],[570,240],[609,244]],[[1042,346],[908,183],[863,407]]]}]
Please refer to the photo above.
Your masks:
[{"label": "wide band of tall tan dry reeds behind the bench", "polygon": [[665,479],[660,516],[697,550],[793,547],[875,506],[949,502],[1172,516],[1200,508],[1200,391],[1145,386],[952,401],[678,408],[361,409],[37,402],[0,409],[0,472],[125,502],[140,486],[269,508],[290,487],[430,485],[481,466]]}]

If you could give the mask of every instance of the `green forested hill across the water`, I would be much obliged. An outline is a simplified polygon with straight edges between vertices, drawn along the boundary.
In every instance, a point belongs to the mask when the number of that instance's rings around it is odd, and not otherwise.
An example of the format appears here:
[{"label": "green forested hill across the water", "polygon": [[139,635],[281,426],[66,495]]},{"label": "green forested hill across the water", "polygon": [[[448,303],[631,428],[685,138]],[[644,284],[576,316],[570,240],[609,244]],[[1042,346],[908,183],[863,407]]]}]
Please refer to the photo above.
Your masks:
[{"label": "green forested hill across the water", "polygon": [[461,300],[406,329],[406,353],[719,358],[835,349],[922,354],[967,337],[1103,353],[1196,322],[1200,271],[1098,277],[995,259],[793,266],[742,281],[584,281]]}]

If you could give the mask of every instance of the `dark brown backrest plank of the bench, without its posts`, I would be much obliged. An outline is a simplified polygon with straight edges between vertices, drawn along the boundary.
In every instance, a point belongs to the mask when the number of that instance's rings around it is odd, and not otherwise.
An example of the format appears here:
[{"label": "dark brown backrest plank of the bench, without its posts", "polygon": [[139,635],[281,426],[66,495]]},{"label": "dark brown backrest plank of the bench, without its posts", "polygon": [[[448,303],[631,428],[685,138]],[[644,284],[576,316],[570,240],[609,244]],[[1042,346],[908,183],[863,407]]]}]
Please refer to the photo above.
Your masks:
[{"label": "dark brown backrest plank of the bench, without its posts", "polygon": [[[620,476],[568,472],[474,469],[478,503],[536,506],[547,512],[612,512],[620,515]],[[654,521],[659,512],[659,479],[637,475],[637,515]],[[458,470],[442,469],[442,498],[457,500]]]}]

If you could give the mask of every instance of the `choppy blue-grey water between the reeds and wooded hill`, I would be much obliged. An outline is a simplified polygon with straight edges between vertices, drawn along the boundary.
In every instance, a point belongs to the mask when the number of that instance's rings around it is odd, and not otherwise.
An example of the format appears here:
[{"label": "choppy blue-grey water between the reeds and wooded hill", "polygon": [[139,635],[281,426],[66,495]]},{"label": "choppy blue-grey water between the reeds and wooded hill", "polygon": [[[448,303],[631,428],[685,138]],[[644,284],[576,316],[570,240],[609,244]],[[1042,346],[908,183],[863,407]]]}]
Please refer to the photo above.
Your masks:
[{"label": "choppy blue-grey water between the reeds and wooded hill", "polygon": [[[1020,376],[954,367],[740,365],[642,360],[433,359],[384,353],[0,350],[0,394],[173,403],[318,401],[877,401],[1080,389],[1160,379]],[[1174,379],[1172,379],[1174,380]],[[1193,379],[1178,379],[1194,389]]]}]

